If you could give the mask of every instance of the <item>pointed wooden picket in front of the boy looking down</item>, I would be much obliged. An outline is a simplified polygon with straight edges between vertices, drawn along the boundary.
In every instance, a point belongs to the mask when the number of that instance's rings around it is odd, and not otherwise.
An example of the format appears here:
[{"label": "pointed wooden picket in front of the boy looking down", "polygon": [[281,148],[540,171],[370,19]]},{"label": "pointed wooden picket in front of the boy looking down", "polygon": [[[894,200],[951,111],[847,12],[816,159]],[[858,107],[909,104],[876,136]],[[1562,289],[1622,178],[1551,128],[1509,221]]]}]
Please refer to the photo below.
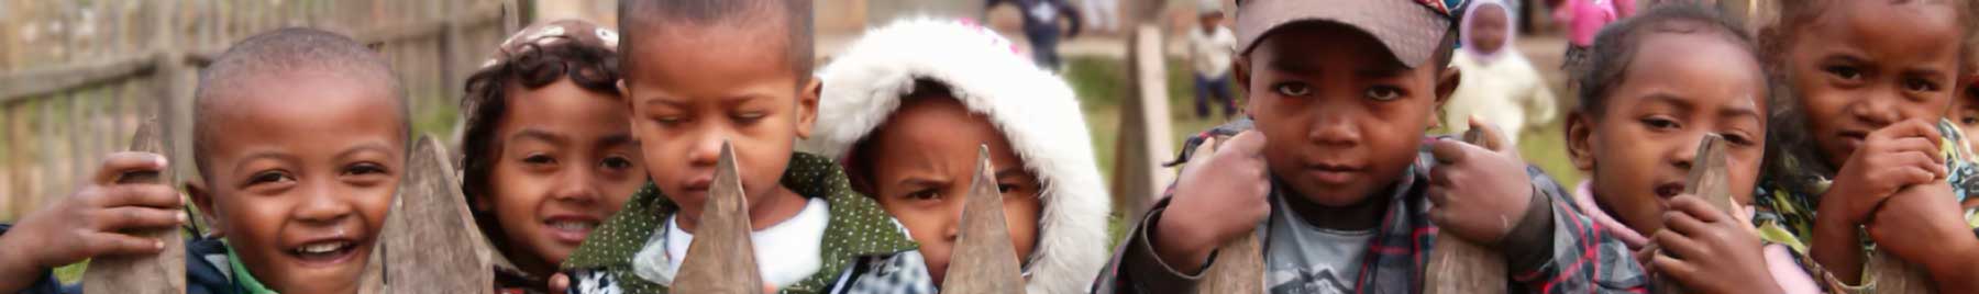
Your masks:
[{"label": "pointed wooden picket in front of the boy looking down", "polygon": [[734,146],[724,140],[722,158],[714,164],[714,184],[708,187],[707,203],[701,205],[701,225],[695,227],[695,241],[687,245],[687,258],[673,278],[673,292],[762,292],[746,195],[736,172]]}]

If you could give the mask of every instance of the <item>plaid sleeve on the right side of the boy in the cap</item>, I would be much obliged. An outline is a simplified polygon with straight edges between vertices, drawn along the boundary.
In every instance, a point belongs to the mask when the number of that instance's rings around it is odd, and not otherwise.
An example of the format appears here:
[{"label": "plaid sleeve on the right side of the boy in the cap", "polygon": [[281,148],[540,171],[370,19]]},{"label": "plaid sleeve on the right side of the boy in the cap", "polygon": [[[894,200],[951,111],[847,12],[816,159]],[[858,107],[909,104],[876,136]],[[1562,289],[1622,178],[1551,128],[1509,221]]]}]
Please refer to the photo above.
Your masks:
[{"label": "plaid sleeve on the right side of the boy in the cap", "polygon": [[1593,219],[1579,215],[1557,182],[1538,168],[1528,172],[1534,174],[1536,193],[1546,197],[1552,229],[1544,233],[1548,239],[1544,247],[1506,249],[1514,292],[1647,292],[1649,278],[1629,247],[1609,237]]}]

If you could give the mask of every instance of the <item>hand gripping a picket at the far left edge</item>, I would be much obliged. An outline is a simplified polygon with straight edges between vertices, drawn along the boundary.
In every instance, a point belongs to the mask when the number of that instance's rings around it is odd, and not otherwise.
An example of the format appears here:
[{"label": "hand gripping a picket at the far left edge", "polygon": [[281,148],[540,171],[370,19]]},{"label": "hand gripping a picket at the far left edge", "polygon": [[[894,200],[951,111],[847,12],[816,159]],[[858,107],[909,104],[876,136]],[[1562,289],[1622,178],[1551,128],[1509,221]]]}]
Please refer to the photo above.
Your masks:
[{"label": "hand gripping a picket at the far left edge", "polygon": [[53,268],[103,255],[156,255],[164,249],[164,241],[123,231],[186,223],[178,191],[164,184],[117,184],[117,178],[164,168],[164,156],[158,154],[111,154],[75,195],[22,217],[12,231],[0,235],[0,249],[18,253],[16,257],[34,268]]}]

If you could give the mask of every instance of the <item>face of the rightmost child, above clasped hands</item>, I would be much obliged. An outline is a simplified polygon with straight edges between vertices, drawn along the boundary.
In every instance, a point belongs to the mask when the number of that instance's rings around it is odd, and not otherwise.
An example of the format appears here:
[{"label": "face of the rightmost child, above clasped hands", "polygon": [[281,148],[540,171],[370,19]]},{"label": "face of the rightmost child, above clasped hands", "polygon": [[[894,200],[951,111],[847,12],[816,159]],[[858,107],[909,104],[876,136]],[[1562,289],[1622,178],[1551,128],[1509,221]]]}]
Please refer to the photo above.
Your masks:
[{"label": "face of the rightmost child, above clasped hands", "polygon": [[1837,2],[1787,53],[1789,85],[1829,166],[1868,132],[1941,118],[1959,77],[1957,16],[1935,4]]}]

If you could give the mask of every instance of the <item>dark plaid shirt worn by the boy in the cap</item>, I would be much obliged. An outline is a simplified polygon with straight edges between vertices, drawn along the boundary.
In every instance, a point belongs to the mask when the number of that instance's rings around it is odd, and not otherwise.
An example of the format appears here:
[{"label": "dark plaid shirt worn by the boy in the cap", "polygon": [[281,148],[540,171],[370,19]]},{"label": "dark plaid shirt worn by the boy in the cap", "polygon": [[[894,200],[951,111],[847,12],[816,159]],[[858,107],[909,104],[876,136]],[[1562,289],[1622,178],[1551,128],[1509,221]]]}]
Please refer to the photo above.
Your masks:
[{"label": "dark plaid shirt worn by the boy in the cap", "polygon": [[[1247,122],[1243,122],[1247,124]],[[1245,126],[1247,128],[1247,126]],[[1237,128],[1241,130],[1241,128]],[[1215,134],[1235,134],[1229,128],[1217,128],[1205,132],[1203,136]],[[1191,138],[1189,146],[1199,144],[1203,136]],[[1435,140],[1435,138],[1427,138]],[[1193,148],[1183,148],[1193,150]],[[1187,156],[1179,158],[1185,162]],[[1377,225],[1377,235],[1367,247],[1367,257],[1362,260],[1360,276],[1354,282],[1356,292],[1397,292],[1415,294],[1423,292],[1423,272],[1429,266],[1429,251],[1435,245],[1439,229],[1429,221],[1429,168],[1435,160],[1425,150],[1419,152],[1415,164],[1409,168],[1409,176],[1399,180],[1395,193],[1389,195],[1391,201],[1387,213],[1381,215]],[[1510,292],[1647,292],[1649,278],[1643,268],[1631,258],[1633,253],[1585,215],[1573,209],[1571,199],[1565,189],[1542,174],[1538,168],[1528,168],[1534,180],[1534,189],[1546,195],[1546,207],[1552,213],[1554,231],[1548,233],[1550,241],[1534,241],[1548,245],[1550,253],[1540,262],[1520,264],[1518,260],[1508,260],[1506,288]],[[1170,189],[1174,191],[1174,189]],[[1284,193],[1274,193],[1271,197],[1284,197]],[[1116,251],[1114,258],[1100,272],[1094,284],[1094,292],[1193,292],[1197,282],[1201,282],[1201,268],[1191,268],[1181,274],[1168,262],[1154,255],[1152,239],[1148,239],[1148,229],[1166,211],[1168,199],[1156,203],[1152,211],[1134,227],[1122,249]],[[1536,207],[1534,211],[1538,211]],[[1259,229],[1263,235],[1263,225]],[[1528,245],[1534,245],[1528,243]],[[1265,243],[1269,245],[1269,241]],[[1520,251],[1516,247],[1508,247]],[[1271,249],[1265,249],[1267,253]],[[1542,249],[1528,249],[1542,251]],[[1518,257],[1518,255],[1508,255]],[[1211,258],[1213,262],[1213,258]],[[1203,266],[1207,268],[1207,264]]]}]

